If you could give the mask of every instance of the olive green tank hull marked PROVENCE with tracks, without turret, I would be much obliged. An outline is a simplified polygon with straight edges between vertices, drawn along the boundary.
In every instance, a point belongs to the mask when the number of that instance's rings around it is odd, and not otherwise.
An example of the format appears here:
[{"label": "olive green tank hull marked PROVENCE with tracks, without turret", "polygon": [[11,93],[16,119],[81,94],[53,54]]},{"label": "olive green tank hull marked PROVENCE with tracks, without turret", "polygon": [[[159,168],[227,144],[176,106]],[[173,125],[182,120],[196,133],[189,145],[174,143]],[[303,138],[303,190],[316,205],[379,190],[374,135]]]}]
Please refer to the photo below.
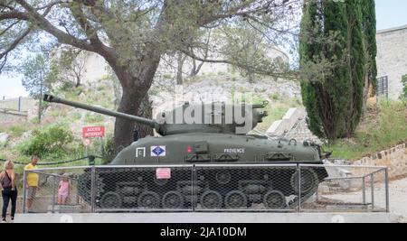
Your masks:
[{"label": "olive green tank hull marked PROVENCE with tracks, without turret", "polygon": [[[119,153],[110,163],[113,169],[96,171],[95,201],[101,210],[193,205],[194,209],[247,209],[257,204],[261,209],[292,209],[298,197],[305,201],[314,195],[327,177],[322,167],[302,169],[299,186],[300,163],[322,164],[317,149],[294,142],[204,133],[147,137]],[[160,166],[168,167],[169,178],[157,177]],[[80,183],[89,187],[90,173]],[[90,201],[88,191],[81,196]]]}]

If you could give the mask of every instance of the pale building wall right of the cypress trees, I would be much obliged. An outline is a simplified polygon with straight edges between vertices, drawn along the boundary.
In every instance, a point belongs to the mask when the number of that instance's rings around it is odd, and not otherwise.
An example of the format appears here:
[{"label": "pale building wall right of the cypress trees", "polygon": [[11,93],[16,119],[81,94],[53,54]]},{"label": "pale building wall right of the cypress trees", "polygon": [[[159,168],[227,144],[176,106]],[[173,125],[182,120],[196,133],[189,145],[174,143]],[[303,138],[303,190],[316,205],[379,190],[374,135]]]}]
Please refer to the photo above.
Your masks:
[{"label": "pale building wall right of the cypress trees", "polygon": [[407,25],[378,31],[377,77],[389,79],[389,98],[397,99],[402,93],[402,76],[407,74]]}]

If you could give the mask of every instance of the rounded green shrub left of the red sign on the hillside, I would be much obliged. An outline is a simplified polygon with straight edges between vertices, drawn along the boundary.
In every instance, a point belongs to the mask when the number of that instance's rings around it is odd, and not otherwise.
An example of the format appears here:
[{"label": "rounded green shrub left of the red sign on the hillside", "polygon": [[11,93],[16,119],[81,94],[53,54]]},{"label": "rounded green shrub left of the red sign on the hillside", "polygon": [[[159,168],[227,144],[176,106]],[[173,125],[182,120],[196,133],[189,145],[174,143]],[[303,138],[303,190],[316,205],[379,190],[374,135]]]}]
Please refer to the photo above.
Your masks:
[{"label": "rounded green shrub left of the red sign on the hillside", "polygon": [[33,136],[18,146],[25,155],[37,154],[40,157],[52,155],[61,157],[68,153],[67,144],[73,141],[73,134],[67,125],[55,124],[41,130],[34,130]]}]

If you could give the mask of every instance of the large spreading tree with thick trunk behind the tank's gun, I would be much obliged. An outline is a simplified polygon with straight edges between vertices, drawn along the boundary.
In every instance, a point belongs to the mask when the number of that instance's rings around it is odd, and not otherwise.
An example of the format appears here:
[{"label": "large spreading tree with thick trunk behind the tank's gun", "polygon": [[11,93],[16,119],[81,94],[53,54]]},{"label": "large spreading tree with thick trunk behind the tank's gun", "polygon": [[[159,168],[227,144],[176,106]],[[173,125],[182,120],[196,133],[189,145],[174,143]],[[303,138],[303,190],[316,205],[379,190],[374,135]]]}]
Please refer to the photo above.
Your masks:
[{"label": "large spreading tree with thick trunk behind the tank's gun", "polygon": [[[151,112],[140,107],[149,104],[147,91],[162,56],[179,51],[194,60],[234,64],[194,54],[202,46],[198,32],[246,21],[281,33],[286,28],[281,19],[300,6],[299,0],[0,0],[0,66],[6,66],[13,51],[46,35],[103,57],[123,89],[118,111],[147,115]],[[281,74],[272,68],[262,71]],[[134,125],[116,120],[116,149],[131,143]]]}]

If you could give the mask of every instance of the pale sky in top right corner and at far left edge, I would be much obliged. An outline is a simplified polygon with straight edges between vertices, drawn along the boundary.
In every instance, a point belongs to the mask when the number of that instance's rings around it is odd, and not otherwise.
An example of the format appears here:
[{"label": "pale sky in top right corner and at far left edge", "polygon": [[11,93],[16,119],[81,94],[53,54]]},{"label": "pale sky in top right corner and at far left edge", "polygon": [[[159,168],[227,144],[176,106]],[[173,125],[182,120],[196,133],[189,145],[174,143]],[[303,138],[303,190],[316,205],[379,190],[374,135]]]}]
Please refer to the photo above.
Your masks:
[{"label": "pale sky in top right corner and at far left edge", "polygon": [[[375,0],[377,29],[383,30],[407,25],[406,0]],[[407,46],[406,46],[407,48]],[[27,96],[21,85],[21,77],[8,77],[0,74],[0,98]]]}]

